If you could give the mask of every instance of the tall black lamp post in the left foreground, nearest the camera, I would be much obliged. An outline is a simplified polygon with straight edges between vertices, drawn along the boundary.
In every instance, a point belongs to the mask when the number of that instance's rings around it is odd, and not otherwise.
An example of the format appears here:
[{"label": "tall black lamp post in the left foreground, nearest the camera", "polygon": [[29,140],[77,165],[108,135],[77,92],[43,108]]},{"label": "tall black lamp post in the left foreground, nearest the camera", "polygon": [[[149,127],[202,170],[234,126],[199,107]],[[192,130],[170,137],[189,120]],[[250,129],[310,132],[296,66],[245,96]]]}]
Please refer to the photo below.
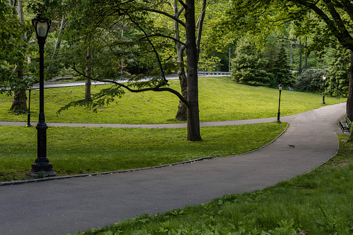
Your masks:
[{"label": "tall black lamp post in the left foreground, nearest the camera", "polygon": [[56,172],[53,171],[53,164],[46,158],[46,129],[48,129],[48,126],[44,118],[44,44],[46,35],[51,26],[51,20],[42,17],[41,13],[37,13],[35,18],[32,19],[32,24],[40,47],[40,116],[36,127],[37,159],[35,159],[35,163],[32,164],[31,175],[49,177],[56,175]]}]

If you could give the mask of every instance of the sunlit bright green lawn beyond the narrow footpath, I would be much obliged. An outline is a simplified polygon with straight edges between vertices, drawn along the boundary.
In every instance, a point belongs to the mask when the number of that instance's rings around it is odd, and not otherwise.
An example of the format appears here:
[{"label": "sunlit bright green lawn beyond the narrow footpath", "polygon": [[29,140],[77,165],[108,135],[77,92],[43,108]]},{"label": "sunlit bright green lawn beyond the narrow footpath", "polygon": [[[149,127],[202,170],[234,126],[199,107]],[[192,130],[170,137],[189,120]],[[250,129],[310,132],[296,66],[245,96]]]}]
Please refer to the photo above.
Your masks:
[{"label": "sunlit bright green lawn beyond the narrow footpath", "polygon": [[[179,88],[178,80],[170,81],[171,87]],[[93,85],[92,93],[111,85]],[[115,102],[98,109],[97,113],[85,107],[72,107],[56,112],[70,101],[84,97],[85,87],[45,89],[44,112],[46,122],[62,123],[175,123],[178,98],[168,92],[126,93]],[[31,94],[31,120],[38,119],[39,92]],[[200,121],[229,121],[261,119],[277,116],[278,89],[250,87],[235,84],[228,77],[199,79]],[[343,103],[346,98],[325,97],[327,105]],[[27,115],[9,112],[12,97],[0,95],[0,121],[27,121]],[[282,91],[281,116],[298,114],[322,107],[322,95]]]}]

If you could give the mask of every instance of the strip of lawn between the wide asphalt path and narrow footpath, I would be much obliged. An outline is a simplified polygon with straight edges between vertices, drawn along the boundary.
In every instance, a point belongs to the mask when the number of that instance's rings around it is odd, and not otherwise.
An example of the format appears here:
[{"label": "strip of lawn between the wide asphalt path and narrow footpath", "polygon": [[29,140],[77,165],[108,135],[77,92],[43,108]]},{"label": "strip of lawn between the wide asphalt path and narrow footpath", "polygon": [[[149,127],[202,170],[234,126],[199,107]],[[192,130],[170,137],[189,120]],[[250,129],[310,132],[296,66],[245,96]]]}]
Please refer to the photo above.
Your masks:
[{"label": "strip of lawn between the wide asphalt path and narrow footpath", "polygon": [[[100,173],[246,153],[273,141],[286,123],[201,128],[203,141],[186,140],[186,128],[49,127],[47,156],[58,175]],[[28,179],[37,157],[37,130],[0,126],[0,181]]]}]

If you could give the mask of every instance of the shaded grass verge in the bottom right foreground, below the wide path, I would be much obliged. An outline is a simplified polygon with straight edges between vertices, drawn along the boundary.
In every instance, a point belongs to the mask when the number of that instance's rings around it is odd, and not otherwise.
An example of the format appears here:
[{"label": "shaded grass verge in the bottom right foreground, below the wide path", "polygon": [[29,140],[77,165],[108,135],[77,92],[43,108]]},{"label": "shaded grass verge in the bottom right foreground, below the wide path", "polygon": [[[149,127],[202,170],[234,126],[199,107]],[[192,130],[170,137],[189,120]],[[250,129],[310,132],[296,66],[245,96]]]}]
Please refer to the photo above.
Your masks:
[{"label": "shaded grass verge in the bottom right foreground, below the wide path", "polygon": [[352,234],[353,148],[340,134],[338,155],[310,173],[264,190],[208,204],[137,216],[84,234]]}]

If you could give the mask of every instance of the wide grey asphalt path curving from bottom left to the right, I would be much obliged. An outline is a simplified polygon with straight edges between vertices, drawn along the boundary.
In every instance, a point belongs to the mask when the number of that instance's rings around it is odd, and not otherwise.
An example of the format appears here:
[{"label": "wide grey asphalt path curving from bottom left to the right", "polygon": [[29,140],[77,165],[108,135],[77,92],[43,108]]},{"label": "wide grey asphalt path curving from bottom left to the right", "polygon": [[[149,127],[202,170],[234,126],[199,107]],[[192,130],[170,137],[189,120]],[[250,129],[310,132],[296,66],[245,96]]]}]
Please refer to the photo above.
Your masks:
[{"label": "wide grey asphalt path curving from bottom left to the right", "polygon": [[[141,214],[264,189],[336,154],[345,103],[282,121],[289,128],[255,152],[128,173],[0,186],[0,234],[66,234]],[[287,120],[286,120],[287,119]],[[289,148],[289,144],[295,148]]]}]

